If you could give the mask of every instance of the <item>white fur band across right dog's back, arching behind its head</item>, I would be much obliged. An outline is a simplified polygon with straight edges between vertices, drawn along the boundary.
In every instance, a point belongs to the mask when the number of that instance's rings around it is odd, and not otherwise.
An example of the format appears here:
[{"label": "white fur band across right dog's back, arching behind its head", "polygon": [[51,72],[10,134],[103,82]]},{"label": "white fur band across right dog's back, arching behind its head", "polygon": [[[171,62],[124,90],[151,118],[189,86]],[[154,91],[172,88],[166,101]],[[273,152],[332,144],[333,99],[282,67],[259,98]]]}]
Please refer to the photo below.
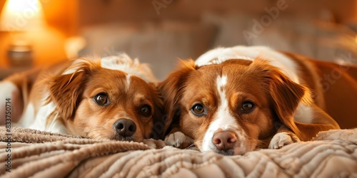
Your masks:
[{"label": "white fur band across right dog's back, arching behind its head", "polygon": [[213,63],[223,63],[229,59],[244,59],[254,61],[255,58],[261,57],[271,61],[271,65],[281,69],[288,78],[295,83],[298,80],[298,68],[291,58],[278,53],[266,46],[233,46],[231,48],[215,48],[203,53],[195,61],[197,66],[207,66]]}]

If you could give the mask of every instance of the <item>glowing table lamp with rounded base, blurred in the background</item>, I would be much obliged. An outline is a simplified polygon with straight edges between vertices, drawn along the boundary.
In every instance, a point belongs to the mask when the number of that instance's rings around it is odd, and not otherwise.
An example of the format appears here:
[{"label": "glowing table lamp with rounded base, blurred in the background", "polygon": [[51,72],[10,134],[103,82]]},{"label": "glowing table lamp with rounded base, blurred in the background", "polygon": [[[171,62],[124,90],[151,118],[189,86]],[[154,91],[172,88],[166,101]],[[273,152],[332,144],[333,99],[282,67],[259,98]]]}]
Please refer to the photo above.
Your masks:
[{"label": "glowing table lamp with rounded base, blurred in the background", "polygon": [[0,16],[0,30],[11,37],[7,56],[11,66],[31,66],[32,47],[26,33],[45,26],[44,11],[39,0],[6,0]]}]

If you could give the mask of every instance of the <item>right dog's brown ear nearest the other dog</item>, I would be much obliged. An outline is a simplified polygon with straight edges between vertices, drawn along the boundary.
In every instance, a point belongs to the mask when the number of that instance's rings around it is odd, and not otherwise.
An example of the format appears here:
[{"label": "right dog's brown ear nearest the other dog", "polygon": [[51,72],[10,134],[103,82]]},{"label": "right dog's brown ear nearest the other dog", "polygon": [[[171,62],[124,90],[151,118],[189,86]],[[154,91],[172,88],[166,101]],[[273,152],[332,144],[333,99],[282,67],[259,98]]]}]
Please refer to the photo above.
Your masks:
[{"label": "right dog's brown ear nearest the other dog", "polygon": [[159,92],[164,98],[164,115],[161,120],[164,123],[164,130],[160,132],[162,136],[166,134],[171,123],[180,117],[178,100],[181,98],[188,74],[193,70],[196,70],[196,65],[192,59],[180,61],[176,70],[171,72],[166,80],[159,83]]}]

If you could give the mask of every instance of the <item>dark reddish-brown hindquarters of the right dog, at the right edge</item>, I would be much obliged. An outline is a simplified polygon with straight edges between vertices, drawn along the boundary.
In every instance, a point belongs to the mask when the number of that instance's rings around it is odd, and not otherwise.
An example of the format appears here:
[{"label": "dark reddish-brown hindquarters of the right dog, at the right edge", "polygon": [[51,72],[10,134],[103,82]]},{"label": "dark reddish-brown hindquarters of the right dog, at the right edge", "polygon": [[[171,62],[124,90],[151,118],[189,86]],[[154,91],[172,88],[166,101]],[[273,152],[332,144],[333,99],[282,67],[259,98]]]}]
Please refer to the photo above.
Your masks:
[{"label": "dark reddish-brown hindquarters of the right dog, at the right edge", "polygon": [[[357,127],[357,66],[316,61],[294,53],[284,53],[301,69],[301,80],[313,90],[320,112],[330,115],[342,129]],[[325,113],[325,114],[326,114]],[[317,120],[315,122],[323,122]]]}]

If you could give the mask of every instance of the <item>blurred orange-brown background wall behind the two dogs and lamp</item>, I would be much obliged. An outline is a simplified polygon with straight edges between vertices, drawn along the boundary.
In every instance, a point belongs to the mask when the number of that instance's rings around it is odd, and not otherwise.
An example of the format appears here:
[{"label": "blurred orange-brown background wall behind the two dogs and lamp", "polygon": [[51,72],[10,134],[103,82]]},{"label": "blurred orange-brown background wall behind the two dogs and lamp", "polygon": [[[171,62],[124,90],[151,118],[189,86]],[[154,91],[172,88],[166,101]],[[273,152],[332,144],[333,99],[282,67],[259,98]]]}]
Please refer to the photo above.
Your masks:
[{"label": "blurred orange-brown background wall behind the two dogs and lamp", "polygon": [[[21,4],[35,0],[6,1]],[[6,1],[0,0],[1,11]],[[156,76],[164,79],[178,58],[195,59],[211,48],[236,45],[270,46],[318,60],[357,63],[357,0],[40,3],[46,26],[39,31],[21,32],[21,38],[31,45],[32,65],[11,65],[9,46],[19,37],[14,37],[17,32],[3,29],[0,78],[68,58],[126,52],[150,63]],[[17,18],[28,20],[29,14],[25,15],[18,14]]]}]

